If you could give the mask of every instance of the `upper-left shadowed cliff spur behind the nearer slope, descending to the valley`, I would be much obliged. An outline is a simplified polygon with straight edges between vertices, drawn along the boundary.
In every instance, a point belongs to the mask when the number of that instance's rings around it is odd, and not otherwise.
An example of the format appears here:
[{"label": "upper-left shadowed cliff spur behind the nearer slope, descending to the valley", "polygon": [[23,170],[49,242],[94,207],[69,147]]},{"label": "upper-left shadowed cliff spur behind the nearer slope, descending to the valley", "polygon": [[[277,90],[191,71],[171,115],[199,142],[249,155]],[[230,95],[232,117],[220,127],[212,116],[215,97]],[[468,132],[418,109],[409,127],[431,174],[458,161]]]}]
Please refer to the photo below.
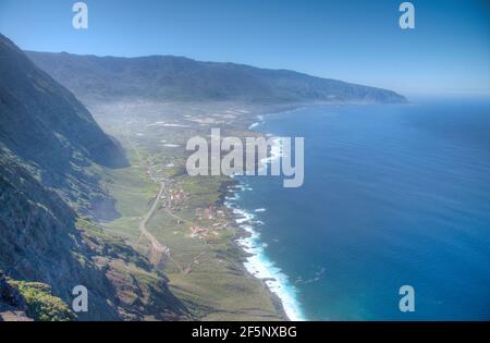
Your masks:
[{"label": "upper-left shadowed cliff spur behind the nearer slope, descending to the valley", "polygon": [[[0,35],[0,149],[28,167],[42,185],[86,216],[94,204],[110,209],[97,169],[127,164],[119,143],[106,135],[76,98]],[[100,168],[99,168],[100,169]]]}]

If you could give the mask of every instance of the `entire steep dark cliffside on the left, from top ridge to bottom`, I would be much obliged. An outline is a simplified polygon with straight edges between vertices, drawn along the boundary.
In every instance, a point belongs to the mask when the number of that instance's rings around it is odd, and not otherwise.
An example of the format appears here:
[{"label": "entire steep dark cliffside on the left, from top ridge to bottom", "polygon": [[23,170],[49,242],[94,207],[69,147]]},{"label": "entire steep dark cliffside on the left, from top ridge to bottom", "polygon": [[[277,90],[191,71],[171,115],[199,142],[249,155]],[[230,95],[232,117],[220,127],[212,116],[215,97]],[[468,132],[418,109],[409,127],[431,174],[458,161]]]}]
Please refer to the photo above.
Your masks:
[{"label": "entire steep dark cliffside on the left, from top ridge to bottom", "polygon": [[185,317],[164,275],[89,221],[94,199],[111,200],[100,171],[124,166],[122,149],[1,35],[0,60],[0,270],[33,304],[51,293],[71,304],[73,287],[85,285],[82,320]]}]

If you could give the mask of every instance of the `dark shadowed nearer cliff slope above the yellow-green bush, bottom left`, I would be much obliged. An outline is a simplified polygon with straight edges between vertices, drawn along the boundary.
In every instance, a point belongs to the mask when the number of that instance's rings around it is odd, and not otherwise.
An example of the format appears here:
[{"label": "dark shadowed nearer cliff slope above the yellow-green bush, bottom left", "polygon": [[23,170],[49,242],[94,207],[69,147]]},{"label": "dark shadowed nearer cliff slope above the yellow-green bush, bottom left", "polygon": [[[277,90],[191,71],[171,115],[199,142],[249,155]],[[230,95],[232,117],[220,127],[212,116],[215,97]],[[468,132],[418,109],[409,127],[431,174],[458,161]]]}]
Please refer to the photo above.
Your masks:
[{"label": "dark shadowed nearer cliff slope above the yellow-green bush, bottom left", "polygon": [[20,164],[2,157],[0,168],[0,268],[16,280],[47,283],[66,301],[76,284],[87,285],[95,318],[117,319],[106,302],[110,282],[90,260],[74,210]]}]

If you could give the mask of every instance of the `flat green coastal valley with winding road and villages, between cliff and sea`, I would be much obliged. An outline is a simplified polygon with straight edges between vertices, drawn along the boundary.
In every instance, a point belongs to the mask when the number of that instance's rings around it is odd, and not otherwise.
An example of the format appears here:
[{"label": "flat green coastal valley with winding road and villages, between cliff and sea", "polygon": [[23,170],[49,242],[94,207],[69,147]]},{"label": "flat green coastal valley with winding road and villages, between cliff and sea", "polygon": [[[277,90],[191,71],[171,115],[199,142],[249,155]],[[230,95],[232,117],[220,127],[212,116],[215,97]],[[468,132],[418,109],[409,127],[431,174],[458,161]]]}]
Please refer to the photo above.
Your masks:
[{"label": "flat green coastal valley with winding road and villages, between cliff and sea", "polygon": [[[234,241],[244,233],[222,204],[233,180],[185,172],[186,138],[206,135],[209,125],[223,120],[228,132],[249,135],[243,127],[264,109],[147,102],[88,108],[122,143],[131,164],[108,171],[107,188],[121,217],[103,222],[105,230],[120,234],[164,272],[194,319],[284,320],[279,299],[243,266],[245,253]],[[238,117],[238,111],[247,115]],[[193,122],[200,117],[216,121]]]}]

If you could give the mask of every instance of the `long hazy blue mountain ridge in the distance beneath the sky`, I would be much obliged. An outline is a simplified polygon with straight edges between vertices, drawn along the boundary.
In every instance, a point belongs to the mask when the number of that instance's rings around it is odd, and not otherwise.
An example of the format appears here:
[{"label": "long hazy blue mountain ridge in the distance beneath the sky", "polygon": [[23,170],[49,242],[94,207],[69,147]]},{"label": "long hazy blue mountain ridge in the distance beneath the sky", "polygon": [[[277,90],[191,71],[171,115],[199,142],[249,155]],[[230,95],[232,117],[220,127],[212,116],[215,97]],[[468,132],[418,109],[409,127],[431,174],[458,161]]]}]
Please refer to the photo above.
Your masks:
[{"label": "long hazy blue mountain ridge in the distance beneath the sky", "polygon": [[287,70],[200,62],[182,57],[114,58],[26,52],[82,99],[284,102],[405,102],[394,91]]}]

